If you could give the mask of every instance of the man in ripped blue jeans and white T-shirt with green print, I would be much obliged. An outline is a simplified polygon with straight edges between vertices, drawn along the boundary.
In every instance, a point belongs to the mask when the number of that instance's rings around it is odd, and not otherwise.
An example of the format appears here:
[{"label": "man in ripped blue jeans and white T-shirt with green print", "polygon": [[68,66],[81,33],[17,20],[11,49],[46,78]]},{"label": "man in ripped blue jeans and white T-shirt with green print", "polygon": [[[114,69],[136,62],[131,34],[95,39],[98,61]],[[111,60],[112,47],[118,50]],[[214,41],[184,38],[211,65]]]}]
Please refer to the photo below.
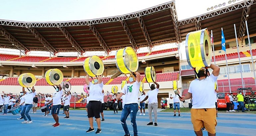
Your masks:
[{"label": "man in ripped blue jeans and white T-shirt with green print", "polygon": [[134,72],[130,74],[129,77],[129,84],[124,85],[122,92],[116,97],[116,99],[120,99],[123,95],[125,95],[125,104],[124,108],[122,110],[122,115],[121,115],[121,124],[125,132],[125,136],[130,136],[127,124],[126,124],[126,119],[131,114],[131,123],[133,126],[133,134],[134,136],[138,135],[138,130],[137,130],[137,124],[136,124],[136,115],[138,112],[138,94],[140,90],[140,80],[141,76],[140,73]]}]

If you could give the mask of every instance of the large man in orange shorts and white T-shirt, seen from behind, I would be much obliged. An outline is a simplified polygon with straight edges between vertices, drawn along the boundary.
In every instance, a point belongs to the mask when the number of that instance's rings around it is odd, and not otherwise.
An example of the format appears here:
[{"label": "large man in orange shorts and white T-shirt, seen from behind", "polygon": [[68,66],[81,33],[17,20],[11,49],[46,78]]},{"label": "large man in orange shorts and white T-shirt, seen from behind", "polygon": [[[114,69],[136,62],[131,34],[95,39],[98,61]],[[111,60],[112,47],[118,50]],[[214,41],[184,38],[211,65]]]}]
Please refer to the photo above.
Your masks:
[{"label": "large man in orange shorts and white T-shirt, seen from behind", "polygon": [[216,134],[216,94],[214,83],[217,81],[220,68],[214,64],[210,64],[210,68],[213,71],[209,77],[206,76],[206,69],[204,67],[200,68],[197,74],[199,79],[193,80],[186,96],[180,98],[180,101],[184,101],[193,97],[191,122],[197,136],[202,136],[201,128],[203,126],[208,131],[209,136],[215,136]]}]

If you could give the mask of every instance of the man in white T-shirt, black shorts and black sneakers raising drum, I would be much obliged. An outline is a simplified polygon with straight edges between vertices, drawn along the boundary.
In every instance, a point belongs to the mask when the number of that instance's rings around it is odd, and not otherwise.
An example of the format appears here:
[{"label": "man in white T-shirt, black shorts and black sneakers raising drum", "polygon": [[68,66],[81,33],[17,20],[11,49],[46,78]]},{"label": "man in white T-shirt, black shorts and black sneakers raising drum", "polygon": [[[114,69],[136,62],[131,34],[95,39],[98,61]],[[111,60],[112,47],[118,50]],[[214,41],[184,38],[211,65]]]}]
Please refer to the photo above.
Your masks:
[{"label": "man in white T-shirt, black shorts and black sneakers raising drum", "polygon": [[101,101],[102,101],[102,89],[103,82],[101,76],[98,76],[97,79],[94,80],[94,84],[89,81],[89,75],[87,74],[85,77],[85,83],[89,86],[89,94],[90,101],[87,106],[88,110],[88,119],[90,123],[90,128],[86,131],[86,133],[93,132],[93,117],[96,118],[96,122],[98,125],[98,129],[96,134],[101,133],[100,128],[100,109],[101,109]]}]

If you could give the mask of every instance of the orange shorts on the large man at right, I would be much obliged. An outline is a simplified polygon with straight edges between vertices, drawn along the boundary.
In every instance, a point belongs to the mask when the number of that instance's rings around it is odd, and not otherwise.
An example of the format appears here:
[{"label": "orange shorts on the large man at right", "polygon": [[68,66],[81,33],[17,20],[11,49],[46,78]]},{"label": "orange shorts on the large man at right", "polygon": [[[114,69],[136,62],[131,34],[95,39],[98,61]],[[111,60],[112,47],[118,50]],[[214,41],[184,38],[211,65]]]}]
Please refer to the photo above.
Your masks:
[{"label": "orange shorts on the large man at right", "polygon": [[[205,111],[206,110],[206,111]],[[201,131],[201,128],[205,129],[211,133],[215,134],[215,126],[217,125],[216,120],[216,109],[206,108],[206,109],[191,109],[191,122],[194,127],[194,131]]]}]

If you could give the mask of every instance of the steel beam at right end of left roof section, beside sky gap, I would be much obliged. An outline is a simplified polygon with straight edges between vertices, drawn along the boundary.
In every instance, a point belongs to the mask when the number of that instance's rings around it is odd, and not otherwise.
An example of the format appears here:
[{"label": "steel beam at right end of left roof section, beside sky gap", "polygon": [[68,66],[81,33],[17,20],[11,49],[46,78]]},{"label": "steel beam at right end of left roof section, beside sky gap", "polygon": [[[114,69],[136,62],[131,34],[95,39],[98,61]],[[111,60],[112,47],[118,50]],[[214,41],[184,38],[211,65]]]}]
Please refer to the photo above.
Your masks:
[{"label": "steel beam at right end of left roof section, beside sky gap", "polygon": [[178,15],[175,7],[175,2],[170,4],[170,10],[171,10],[171,16],[172,16],[172,22],[173,22],[173,28],[174,28],[174,33],[176,36],[177,43],[182,42],[181,40],[181,32],[178,24]]}]

